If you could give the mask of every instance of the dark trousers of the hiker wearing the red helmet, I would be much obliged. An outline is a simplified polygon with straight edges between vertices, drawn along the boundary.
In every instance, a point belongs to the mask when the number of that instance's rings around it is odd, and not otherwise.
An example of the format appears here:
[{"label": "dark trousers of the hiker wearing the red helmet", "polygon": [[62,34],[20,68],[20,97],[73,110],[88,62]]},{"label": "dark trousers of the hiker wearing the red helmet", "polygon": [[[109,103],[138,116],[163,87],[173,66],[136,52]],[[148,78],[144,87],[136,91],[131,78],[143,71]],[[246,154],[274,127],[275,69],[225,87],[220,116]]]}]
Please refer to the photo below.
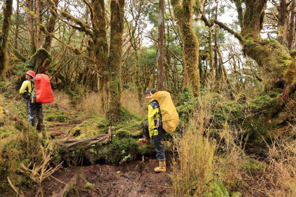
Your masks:
[{"label": "dark trousers of the hiker wearing the red helmet", "polygon": [[38,118],[37,130],[41,130],[43,126],[43,114],[42,114],[42,104],[41,103],[31,103],[30,100],[27,100],[27,113],[28,121],[32,126],[36,126],[36,117]]}]

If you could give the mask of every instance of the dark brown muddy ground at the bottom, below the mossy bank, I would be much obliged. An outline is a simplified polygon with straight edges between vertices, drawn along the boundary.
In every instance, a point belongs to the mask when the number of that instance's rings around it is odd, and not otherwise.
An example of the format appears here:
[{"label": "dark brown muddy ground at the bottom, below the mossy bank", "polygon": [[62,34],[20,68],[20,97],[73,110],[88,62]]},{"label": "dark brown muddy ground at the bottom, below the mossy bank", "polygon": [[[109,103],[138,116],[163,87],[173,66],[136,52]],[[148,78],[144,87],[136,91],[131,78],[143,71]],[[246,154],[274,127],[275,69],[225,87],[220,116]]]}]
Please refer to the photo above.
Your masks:
[{"label": "dark brown muddy ground at the bottom, below the mossy bank", "polygon": [[[155,173],[153,168],[157,160],[145,158],[123,165],[96,164],[62,168],[53,176],[61,182],[68,183],[78,173],[78,197],[163,197],[169,194],[171,181],[167,172]],[[53,178],[44,181],[45,196],[60,193],[65,184]],[[91,184],[89,184],[91,183]],[[89,185],[91,187],[89,187]],[[93,188],[92,188],[93,186]],[[27,191],[26,197],[35,197],[37,190]]]}]

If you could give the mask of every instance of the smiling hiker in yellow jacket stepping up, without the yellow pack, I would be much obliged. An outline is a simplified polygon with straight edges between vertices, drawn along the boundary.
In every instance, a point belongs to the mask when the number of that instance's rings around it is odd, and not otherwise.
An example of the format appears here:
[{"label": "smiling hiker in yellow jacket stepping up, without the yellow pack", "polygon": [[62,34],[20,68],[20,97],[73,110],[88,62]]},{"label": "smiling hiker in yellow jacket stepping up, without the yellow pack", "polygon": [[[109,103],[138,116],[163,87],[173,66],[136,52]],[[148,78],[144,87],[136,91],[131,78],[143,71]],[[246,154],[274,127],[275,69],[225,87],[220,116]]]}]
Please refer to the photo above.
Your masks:
[{"label": "smiling hiker in yellow jacket stepping up, without the yellow pack", "polygon": [[144,138],[139,139],[139,141],[149,144],[150,140],[153,139],[156,158],[159,163],[159,166],[155,167],[154,171],[165,172],[166,166],[163,141],[166,131],[162,128],[162,122],[160,121],[159,104],[152,98],[155,92],[155,89],[149,89],[146,91],[146,98],[148,100],[148,120],[143,122]]}]

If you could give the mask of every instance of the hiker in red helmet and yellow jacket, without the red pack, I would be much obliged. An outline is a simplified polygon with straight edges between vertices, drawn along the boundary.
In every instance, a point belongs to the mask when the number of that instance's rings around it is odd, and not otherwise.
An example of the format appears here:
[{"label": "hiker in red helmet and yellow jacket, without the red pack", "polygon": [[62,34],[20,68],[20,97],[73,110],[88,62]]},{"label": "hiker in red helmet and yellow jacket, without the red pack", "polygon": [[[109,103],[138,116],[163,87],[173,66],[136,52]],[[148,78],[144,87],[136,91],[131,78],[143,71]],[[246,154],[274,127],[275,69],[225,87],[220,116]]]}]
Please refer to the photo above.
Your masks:
[{"label": "hiker in red helmet and yellow jacket, without the red pack", "polygon": [[[36,129],[38,131],[41,130],[43,126],[43,114],[42,114],[42,104],[41,103],[32,103],[32,95],[35,92],[35,83],[32,82],[32,79],[35,78],[35,72],[34,71],[28,71],[26,74],[26,79],[22,87],[20,89],[20,94],[23,95],[23,98],[27,100],[27,113],[28,113],[28,121],[32,126],[35,127],[36,125],[36,117],[38,118],[38,123],[36,126]],[[29,96],[26,96],[26,94],[29,94]]]}]

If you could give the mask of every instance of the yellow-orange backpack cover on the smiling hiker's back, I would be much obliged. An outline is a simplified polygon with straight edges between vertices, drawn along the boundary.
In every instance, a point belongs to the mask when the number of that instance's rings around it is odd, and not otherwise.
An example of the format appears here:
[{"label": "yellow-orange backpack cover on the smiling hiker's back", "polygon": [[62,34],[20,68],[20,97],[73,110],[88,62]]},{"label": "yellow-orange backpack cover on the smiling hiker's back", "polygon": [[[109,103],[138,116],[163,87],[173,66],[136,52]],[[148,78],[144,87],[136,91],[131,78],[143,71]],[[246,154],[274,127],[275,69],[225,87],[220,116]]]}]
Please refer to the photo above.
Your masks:
[{"label": "yellow-orange backpack cover on the smiling hiker's back", "polygon": [[159,103],[162,117],[162,127],[167,133],[173,133],[179,124],[179,114],[173,103],[171,94],[167,91],[157,91],[153,98]]}]

